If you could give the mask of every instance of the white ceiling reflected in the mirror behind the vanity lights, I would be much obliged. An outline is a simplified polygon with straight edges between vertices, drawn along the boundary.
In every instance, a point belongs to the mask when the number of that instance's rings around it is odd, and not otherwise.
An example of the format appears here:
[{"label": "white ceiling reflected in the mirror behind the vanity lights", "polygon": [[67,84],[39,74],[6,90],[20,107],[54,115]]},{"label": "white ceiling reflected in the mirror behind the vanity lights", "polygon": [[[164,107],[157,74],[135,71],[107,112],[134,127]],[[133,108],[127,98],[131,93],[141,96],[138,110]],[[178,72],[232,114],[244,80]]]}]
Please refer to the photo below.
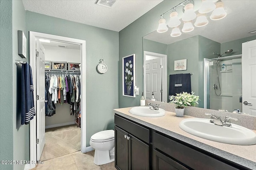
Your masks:
[{"label": "white ceiling reflected in the mirror behind the vanity lights", "polygon": [[[200,2],[201,1],[198,0],[194,1],[195,10],[200,8]],[[256,35],[256,33],[248,33],[248,31],[256,30],[256,0],[222,0],[222,2],[224,2],[224,8],[227,12],[227,16],[222,20],[210,20],[211,13],[208,13],[208,25],[204,27],[195,27],[194,31],[182,33],[179,37],[171,37],[170,33],[172,32],[172,29],[169,28],[165,33],[154,31],[144,36],[144,38],[164,44],[170,44],[195,35],[202,35],[213,41],[224,43]],[[180,15],[183,14],[182,6],[179,6],[176,10],[179,13],[179,18],[182,18],[182,15]],[[164,15],[166,24],[168,24],[170,13],[171,12]],[[192,21],[192,23],[194,22],[195,20]],[[183,24],[180,25],[180,30],[182,27]]]}]

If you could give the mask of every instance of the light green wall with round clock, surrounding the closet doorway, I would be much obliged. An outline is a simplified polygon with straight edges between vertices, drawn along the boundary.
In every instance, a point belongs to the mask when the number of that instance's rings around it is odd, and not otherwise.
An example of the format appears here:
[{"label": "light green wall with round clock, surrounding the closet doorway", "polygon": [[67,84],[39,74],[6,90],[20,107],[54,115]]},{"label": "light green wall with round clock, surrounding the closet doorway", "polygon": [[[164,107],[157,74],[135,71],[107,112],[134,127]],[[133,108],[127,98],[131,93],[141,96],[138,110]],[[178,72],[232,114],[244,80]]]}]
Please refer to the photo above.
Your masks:
[{"label": "light green wall with round clock, surrounding the closet doorway", "polygon": [[[118,108],[118,32],[29,11],[26,31],[86,40],[86,146],[94,133],[114,129],[113,109]],[[100,59],[108,66],[105,74],[96,71]]]}]

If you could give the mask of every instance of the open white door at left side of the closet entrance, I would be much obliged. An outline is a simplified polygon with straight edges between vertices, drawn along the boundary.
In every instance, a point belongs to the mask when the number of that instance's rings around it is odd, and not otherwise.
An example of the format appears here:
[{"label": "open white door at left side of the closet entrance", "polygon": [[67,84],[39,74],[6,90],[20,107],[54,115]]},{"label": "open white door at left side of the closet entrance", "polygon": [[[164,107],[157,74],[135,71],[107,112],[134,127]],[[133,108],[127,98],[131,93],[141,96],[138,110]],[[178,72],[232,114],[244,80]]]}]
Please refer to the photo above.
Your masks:
[{"label": "open white door at left side of the closet entrance", "polygon": [[36,40],[36,160],[40,160],[45,144],[45,78],[44,47]]}]

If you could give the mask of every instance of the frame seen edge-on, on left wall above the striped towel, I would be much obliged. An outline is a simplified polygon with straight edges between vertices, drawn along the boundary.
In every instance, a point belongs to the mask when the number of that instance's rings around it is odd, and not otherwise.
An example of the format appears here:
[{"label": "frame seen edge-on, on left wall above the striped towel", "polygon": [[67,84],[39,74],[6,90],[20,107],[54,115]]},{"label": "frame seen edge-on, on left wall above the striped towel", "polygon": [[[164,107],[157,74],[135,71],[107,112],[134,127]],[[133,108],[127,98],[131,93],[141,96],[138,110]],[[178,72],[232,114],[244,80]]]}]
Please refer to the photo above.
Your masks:
[{"label": "frame seen edge-on, on left wall above the striped towel", "polygon": [[22,58],[27,58],[27,39],[21,30],[18,30],[18,55]]}]

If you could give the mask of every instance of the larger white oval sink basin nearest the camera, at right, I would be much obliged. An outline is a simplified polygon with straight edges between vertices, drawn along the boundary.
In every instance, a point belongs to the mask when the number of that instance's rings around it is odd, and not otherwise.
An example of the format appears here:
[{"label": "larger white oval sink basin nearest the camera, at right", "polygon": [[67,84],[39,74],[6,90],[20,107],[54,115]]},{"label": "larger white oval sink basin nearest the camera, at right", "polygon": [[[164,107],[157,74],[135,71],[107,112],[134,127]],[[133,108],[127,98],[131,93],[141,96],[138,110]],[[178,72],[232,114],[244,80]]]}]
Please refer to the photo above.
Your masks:
[{"label": "larger white oval sink basin nearest the camera, at right", "polygon": [[210,119],[184,119],[179,126],[182,130],[211,141],[234,145],[256,144],[256,133],[245,127],[232,124],[232,127],[210,123]]}]

